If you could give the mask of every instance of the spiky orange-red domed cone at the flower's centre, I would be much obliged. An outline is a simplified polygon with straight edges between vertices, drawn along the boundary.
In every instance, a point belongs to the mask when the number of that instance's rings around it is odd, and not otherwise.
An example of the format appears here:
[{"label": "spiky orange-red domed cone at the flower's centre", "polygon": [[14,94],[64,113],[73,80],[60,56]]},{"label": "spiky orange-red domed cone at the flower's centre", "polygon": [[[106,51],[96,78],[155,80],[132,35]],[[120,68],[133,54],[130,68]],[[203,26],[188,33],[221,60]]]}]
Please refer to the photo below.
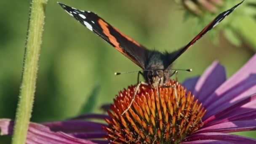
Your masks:
[{"label": "spiky orange-red domed cone at the flower's centre", "polygon": [[[167,85],[176,84],[169,81]],[[157,90],[147,85],[141,85],[131,108],[122,115],[130,104],[135,86],[129,86],[116,96],[104,138],[111,143],[179,143],[186,136],[203,126],[201,118],[206,109],[190,91],[181,84],[176,85],[178,99],[175,99],[173,88]],[[178,101],[178,105],[176,104]]]}]

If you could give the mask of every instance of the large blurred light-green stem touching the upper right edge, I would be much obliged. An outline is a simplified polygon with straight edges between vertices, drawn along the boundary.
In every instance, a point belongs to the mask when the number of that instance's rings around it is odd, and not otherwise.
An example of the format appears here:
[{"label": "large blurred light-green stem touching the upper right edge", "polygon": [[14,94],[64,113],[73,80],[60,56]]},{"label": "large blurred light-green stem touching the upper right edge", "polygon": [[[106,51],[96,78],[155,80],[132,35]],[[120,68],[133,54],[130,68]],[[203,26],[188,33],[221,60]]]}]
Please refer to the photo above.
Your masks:
[{"label": "large blurred light-green stem touching the upper right edge", "polygon": [[231,23],[231,27],[237,32],[245,43],[256,51],[256,21],[251,16],[238,16],[237,21]]}]

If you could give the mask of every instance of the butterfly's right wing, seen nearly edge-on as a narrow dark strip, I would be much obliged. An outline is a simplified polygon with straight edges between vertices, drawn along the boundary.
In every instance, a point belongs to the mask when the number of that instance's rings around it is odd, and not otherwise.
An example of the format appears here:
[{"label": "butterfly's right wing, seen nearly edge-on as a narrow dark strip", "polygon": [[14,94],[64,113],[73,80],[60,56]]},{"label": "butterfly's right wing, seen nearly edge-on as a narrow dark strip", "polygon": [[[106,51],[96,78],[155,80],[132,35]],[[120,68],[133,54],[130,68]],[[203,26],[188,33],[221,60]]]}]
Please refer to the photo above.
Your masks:
[{"label": "butterfly's right wing, seen nearly edge-on as a narrow dark strip", "polygon": [[[244,1],[244,0],[243,0]],[[210,24],[208,24],[195,38],[193,38],[193,40],[191,40],[186,46],[182,47],[181,49],[174,51],[173,53],[171,53],[170,55],[171,60],[170,60],[170,65],[166,68],[166,69],[170,69],[171,68],[171,64],[173,63],[173,61],[175,61],[182,53],[184,53],[191,45],[193,45],[197,40],[199,40],[201,37],[203,37],[209,30],[211,30],[213,27],[215,27],[217,24],[219,24],[219,22],[221,22],[225,17],[227,17],[230,13],[232,13],[232,11],[235,10],[235,8],[237,8],[240,4],[243,3],[240,2],[237,5],[235,5],[234,7],[230,8],[227,11],[224,11],[223,13],[220,13],[213,21],[211,21]]]}]

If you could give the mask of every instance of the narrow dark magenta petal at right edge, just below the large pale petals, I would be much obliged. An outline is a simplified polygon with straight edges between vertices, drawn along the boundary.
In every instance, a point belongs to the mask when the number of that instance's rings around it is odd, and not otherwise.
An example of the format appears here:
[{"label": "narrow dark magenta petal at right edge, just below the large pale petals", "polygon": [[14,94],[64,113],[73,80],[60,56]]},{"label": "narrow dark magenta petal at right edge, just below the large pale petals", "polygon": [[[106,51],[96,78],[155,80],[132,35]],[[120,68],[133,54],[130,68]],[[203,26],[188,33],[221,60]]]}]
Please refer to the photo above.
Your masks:
[{"label": "narrow dark magenta petal at right edge, just below the large pale petals", "polygon": [[237,113],[243,113],[254,109],[256,109],[256,94],[253,96],[248,96],[242,101],[235,102],[232,105],[224,105],[219,107],[218,110],[216,110],[218,111],[216,115],[208,117],[206,120],[203,120],[203,122],[209,123],[216,119],[224,119],[236,115]]}]

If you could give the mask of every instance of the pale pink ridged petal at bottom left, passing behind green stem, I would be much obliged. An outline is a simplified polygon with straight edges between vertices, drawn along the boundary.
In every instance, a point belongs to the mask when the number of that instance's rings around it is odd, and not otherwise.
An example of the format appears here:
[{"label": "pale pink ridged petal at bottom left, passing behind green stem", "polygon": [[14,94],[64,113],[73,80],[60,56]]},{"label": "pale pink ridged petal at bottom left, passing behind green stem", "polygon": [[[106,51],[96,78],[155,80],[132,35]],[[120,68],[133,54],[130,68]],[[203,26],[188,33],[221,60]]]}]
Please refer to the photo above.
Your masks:
[{"label": "pale pink ridged petal at bottom left, passing behind green stem", "polygon": [[[8,119],[0,120],[2,135],[13,133],[13,121]],[[62,132],[53,132],[48,127],[37,123],[29,123],[27,133],[27,144],[96,144],[85,139],[77,139]]]}]

